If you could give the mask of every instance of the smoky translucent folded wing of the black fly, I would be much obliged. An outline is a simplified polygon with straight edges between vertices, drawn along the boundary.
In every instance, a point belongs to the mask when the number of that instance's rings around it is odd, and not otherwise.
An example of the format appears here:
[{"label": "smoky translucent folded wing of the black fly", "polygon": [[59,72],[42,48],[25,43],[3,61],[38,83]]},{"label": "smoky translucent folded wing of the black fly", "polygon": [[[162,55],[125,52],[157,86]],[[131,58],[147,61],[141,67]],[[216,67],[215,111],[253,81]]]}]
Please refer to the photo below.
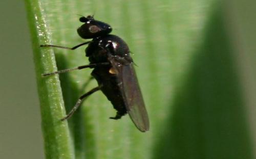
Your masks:
[{"label": "smoky translucent folded wing of the black fly", "polygon": [[149,130],[150,122],[133,64],[121,65],[114,59],[110,61],[113,68],[117,70],[117,76],[121,82],[120,89],[124,96],[127,113],[140,131]]}]

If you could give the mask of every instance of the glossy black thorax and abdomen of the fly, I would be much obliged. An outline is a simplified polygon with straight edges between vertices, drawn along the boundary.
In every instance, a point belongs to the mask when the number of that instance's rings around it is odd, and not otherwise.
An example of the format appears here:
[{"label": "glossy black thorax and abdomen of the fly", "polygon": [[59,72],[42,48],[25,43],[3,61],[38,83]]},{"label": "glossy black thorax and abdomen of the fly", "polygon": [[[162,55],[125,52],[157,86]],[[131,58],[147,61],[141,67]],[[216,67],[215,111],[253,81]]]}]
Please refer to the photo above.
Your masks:
[{"label": "glossy black thorax and abdomen of the fly", "polygon": [[[110,42],[116,47],[113,49],[108,48]],[[90,64],[109,62],[112,56],[117,59],[121,58],[126,64],[131,64],[132,59],[129,54],[130,51],[126,43],[118,36],[109,34],[93,39],[86,49],[86,56],[89,57]],[[125,60],[125,57],[128,57],[127,60]],[[115,65],[122,64],[117,62]],[[98,85],[101,86],[101,91],[117,110],[117,115],[113,119],[119,119],[127,113],[127,110],[125,108],[125,99],[120,89],[121,81],[116,75],[117,72],[111,73],[111,69],[113,69],[112,65],[96,67],[92,71],[92,76],[95,77]]]}]

